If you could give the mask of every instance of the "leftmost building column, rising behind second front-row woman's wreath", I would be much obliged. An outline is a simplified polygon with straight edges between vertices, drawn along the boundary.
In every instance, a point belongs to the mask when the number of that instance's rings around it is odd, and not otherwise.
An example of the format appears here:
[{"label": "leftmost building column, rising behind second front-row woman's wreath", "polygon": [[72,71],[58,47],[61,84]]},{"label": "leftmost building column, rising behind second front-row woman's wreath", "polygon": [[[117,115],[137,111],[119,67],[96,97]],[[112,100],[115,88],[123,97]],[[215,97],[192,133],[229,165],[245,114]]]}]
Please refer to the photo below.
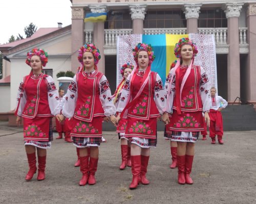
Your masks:
[{"label": "leftmost building column, rising behind second front-row woman's wreath", "polygon": [[80,63],[77,60],[78,49],[83,45],[84,39],[84,11],[82,7],[72,7],[72,31],[71,31],[71,67],[74,73]]}]

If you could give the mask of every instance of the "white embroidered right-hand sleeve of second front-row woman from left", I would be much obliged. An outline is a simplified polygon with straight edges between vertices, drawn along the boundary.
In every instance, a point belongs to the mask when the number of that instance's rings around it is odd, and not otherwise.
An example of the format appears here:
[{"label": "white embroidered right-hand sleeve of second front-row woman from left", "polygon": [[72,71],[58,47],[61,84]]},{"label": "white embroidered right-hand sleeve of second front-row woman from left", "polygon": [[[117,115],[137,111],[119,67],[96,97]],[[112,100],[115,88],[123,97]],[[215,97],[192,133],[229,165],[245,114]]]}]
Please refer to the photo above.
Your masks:
[{"label": "white embroidered right-hand sleeve of second front-row woman from left", "polygon": [[114,115],[116,113],[116,107],[112,101],[112,95],[110,91],[110,85],[105,75],[99,80],[99,91],[100,91],[100,101],[104,110],[105,116]]}]

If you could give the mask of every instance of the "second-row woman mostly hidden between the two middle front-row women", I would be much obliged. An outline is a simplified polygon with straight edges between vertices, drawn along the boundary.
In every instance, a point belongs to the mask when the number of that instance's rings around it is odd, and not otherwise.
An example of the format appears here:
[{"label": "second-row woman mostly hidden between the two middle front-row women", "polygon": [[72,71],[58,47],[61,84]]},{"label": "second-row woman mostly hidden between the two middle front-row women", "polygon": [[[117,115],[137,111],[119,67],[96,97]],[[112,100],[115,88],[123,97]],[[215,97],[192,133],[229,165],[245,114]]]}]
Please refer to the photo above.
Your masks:
[{"label": "second-row woman mostly hidden between the two middle front-row women", "polygon": [[[115,104],[116,107],[118,107],[119,101],[122,100],[122,98],[120,98],[121,93],[122,93],[122,89],[123,89],[123,85],[125,80],[127,79],[127,77],[130,75],[130,73],[132,73],[134,66],[130,63],[124,64],[122,65],[121,69],[120,69],[120,73],[122,74],[122,81],[120,82],[120,84],[118,85],[114,95],[113,95],[113,102]],[[118,133],[118,137],[119,139],[121,139],[121,155],[122,155],[122,163],[119,167],[120,170],[123,170],[126,166],[132,166],[132,162],[131,162],[131,143],[128,142],[129,139],[127,139],[126,137],[124,137],[124,133],[125,133],[125,129],[126,129],[126,125],[127,125],[127,119],[122,118],[119,121],[119,124],[117,125],[116,128],[116,132]]]}]

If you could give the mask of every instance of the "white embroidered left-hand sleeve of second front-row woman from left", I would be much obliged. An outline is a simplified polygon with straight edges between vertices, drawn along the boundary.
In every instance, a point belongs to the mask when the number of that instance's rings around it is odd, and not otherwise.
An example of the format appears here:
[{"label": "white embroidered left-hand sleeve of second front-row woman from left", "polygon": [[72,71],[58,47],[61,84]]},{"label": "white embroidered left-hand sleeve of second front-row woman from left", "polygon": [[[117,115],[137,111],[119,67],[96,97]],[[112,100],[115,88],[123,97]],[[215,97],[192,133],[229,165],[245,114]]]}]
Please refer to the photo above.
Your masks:
[{"label": "white embroidered left-hand sleeve of second front-row woman from left", "polygon": [[[64,97],[63,97],[64,98]],[[76,75],[73,81],[70,83],[66,93],[66,97],[63,101],[62,114],[67,118],[72,118],[75,113],[77,101],[77,78]]]}]

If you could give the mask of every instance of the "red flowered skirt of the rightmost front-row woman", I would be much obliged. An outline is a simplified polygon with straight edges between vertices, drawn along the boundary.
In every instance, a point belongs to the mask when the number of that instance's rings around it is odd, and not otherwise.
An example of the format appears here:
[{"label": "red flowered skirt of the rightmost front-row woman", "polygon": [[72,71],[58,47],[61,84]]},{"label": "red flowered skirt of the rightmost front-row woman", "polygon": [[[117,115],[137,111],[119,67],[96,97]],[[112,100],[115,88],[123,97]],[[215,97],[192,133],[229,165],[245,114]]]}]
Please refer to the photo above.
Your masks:
[{"label": "red flowered skirt of the rightmost front-row woman", "polygon": [[166,133],[172,131],[178,132],[198,132],[204,130],[204,121],[202,111],[198,112],[182,112],[177,114],[174,110],[169,124],[166,125]]}]

